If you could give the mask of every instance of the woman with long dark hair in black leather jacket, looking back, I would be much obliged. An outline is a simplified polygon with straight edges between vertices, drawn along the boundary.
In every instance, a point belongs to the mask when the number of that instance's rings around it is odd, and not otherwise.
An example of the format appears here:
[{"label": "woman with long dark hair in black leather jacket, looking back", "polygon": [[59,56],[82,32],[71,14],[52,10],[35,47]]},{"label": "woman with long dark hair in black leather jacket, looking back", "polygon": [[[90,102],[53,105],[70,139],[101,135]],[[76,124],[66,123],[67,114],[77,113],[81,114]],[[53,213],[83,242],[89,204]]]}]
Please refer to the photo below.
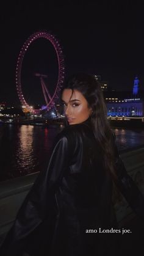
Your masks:
[{"label": "woman with long dark hair in black leather jacket, looking back", "polygon": [[[62,103],[65,128],[2,244],[2,256],[115,255],[121,231],[113,211],[117,188],[143,218],[144,200],[118,155],[98,82],[84,73],[72,76]],[[101,233],[106,229],[114,234]]]}]

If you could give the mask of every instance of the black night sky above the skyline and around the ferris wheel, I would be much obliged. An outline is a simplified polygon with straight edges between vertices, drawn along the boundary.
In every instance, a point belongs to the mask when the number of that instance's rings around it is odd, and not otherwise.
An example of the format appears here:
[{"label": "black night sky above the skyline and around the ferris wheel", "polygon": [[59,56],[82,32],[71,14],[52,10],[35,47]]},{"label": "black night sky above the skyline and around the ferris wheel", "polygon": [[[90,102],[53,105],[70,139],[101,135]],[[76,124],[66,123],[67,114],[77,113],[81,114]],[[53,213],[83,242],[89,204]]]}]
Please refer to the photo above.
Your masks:
[{"label": "black night sky above the skyline and around the ferris wheel", "polygon": [[[134,77],[144,89],[144,8],[139,1],[11,1],[1,6],[0,102],[20,104],[15,70],[18,54],[34,32],[54,34],[62,46],[66,76],[77,71],[101,75],[115,90],[132,90]],[[42,104],[38,78],[57,74],[56,53],[37,40],[23,62],[23,92],[30,104]],[[52,75],[50,75],[52,74]],[[53,78],[52,78],[53,76]],[[37,80],[37,81],[36,81]]]}]

